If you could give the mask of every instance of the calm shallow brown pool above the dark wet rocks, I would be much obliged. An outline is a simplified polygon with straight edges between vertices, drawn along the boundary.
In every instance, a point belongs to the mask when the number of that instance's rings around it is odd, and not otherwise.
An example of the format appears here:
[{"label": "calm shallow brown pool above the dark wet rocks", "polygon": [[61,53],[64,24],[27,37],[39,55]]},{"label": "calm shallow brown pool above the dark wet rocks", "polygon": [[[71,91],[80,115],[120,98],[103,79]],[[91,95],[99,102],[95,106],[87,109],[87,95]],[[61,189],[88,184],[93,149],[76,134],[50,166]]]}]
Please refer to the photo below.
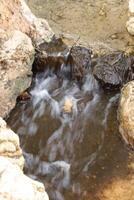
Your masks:
[{"label": "calm shallow brown pool above the dark wet rocks", "polygon": [[127,0],[27,0],[33,13],[47,19],[56,33],[86,43],[124,50],[133,45],[126,31]]}]

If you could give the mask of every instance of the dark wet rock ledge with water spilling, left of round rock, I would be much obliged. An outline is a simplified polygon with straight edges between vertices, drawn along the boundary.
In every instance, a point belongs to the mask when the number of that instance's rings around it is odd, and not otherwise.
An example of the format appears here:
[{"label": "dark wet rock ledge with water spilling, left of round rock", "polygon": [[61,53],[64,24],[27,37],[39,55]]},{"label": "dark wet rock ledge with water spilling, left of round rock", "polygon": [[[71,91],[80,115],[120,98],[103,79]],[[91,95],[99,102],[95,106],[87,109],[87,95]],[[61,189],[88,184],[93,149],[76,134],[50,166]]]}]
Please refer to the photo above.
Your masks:
[{"label": "dark wet rock ledge with water spilling, left of round rock", "polygon": [[41,49],[36,54],[33,73],[51,71],[61,79],[68,78],[82,84],[91,67],[91,54],[90,49],[82,46],[73,46],[70,50],[65,46],[63,51],[48,54]]}]

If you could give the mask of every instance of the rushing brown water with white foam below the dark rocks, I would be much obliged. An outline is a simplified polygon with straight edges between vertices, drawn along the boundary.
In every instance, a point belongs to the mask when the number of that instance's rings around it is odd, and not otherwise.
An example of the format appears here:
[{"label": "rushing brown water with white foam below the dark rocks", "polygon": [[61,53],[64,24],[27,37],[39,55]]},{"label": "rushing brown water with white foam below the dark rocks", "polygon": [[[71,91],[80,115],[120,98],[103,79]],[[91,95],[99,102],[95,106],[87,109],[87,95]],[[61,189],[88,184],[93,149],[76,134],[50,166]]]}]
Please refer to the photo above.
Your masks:
[{"label": "rushing brown water with white foam below the dark rocks", "polygon": [[59,86],[57,76],[46,73],[37,74],[32,99],[8,119],[20,136],[25,173],[45,184],[50,200],[95,199],[113,169],[120,176],[128,160],[116,119],[119,94],[104,94],[91,72],[81,89],[66,79]]}]

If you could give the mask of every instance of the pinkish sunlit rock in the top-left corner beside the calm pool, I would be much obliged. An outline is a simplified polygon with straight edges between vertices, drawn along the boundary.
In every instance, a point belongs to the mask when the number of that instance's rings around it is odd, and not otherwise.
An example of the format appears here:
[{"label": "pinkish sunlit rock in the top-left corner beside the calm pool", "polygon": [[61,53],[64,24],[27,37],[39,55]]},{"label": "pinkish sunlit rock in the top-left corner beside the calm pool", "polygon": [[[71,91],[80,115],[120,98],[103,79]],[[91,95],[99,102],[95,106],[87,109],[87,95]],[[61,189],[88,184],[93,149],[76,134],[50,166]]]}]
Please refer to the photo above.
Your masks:
[{"label": "pinkish sunlit rock in the top-left corner beside the calm pool", "polygon": [[46,20],[36,18],[24,0],[1,0],[0,14],[0,27],[7,32],[20,30],[31,37],[35,44],[50,41],[53,36]]}]

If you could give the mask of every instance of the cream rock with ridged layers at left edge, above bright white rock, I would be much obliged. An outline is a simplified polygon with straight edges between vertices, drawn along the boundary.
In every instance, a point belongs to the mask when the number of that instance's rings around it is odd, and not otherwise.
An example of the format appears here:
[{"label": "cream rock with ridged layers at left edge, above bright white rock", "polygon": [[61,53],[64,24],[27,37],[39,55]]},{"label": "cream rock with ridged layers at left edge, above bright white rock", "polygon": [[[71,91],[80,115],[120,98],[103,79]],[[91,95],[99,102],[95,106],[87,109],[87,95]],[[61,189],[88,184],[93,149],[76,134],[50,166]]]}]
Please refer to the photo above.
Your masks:
[{"label": "cream rock with ridged layers at left edge, above bright white rock", "polygon": [[0,156],[6,157],[11,163],[23,169],[24,158],[20,149],[19,137],[7,127],[0,117]]}]

